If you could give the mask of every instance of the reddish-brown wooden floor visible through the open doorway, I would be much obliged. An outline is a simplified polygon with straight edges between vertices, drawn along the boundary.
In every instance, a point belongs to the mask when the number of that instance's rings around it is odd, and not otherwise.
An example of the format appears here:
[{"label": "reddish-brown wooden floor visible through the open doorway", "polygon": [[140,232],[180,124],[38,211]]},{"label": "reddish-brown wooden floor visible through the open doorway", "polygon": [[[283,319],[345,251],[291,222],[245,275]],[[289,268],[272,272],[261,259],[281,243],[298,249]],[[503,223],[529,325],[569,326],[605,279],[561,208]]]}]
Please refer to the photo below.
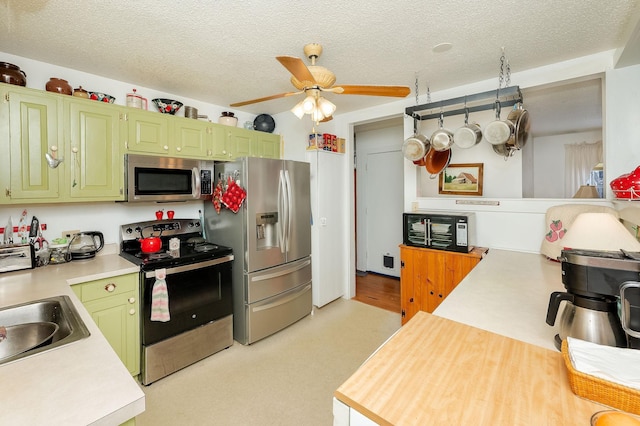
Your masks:
[{"label": "reddish-brown wooden floor visible through the open doorway", "polygon": [[368,272],[356,275],[353,300],[400,313],[400,278]]}]

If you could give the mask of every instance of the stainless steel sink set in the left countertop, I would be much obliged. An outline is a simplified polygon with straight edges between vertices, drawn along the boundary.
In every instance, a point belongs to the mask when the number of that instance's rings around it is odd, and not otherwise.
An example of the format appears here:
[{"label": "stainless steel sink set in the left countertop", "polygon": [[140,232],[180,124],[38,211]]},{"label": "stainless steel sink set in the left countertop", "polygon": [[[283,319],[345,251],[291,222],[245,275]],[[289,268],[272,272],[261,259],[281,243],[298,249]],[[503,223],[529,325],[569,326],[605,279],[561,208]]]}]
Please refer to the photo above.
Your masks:
[{"label": "stainless steel sink set in the left countertop", "polygon": [[[0,360],[0,364],[48,351],[90,336],[69,296],[55,296],[0,309],[0,327],[52,322],[58,325],[46,344]],[[0,345],[2,342],[0,342]]]}]

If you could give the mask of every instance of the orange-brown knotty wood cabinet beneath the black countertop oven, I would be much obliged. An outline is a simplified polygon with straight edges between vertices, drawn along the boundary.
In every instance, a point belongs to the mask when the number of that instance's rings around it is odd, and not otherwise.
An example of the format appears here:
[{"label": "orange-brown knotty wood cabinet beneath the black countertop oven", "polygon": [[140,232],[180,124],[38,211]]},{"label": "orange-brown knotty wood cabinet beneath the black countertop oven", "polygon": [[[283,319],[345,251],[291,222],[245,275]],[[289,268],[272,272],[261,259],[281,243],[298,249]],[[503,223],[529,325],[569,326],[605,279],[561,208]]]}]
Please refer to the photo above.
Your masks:
[{"label": "orange-brown knotty wood cabinet beneath the black countertop oven", "polygon": [[480,262],[486,249],[470,253],[400,246],[402,324],[418,311],[433,312]]}]

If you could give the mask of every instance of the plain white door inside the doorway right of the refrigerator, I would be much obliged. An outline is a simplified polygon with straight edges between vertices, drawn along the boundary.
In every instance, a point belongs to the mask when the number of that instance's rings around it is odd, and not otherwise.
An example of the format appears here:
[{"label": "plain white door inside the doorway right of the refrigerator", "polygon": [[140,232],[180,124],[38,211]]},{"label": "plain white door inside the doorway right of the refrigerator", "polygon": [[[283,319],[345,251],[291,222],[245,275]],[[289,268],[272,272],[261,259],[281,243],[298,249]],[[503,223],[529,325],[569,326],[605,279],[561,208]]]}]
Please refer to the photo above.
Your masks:
[{"label": "plain white door inside the doorway right of the refrigerator", "polygon": [[[366,229],[367,271],[400,276],[402,243],[402,188],[404,180],[401,151],[367,155]],[[387,264],[385,265],[385,259]]]}]

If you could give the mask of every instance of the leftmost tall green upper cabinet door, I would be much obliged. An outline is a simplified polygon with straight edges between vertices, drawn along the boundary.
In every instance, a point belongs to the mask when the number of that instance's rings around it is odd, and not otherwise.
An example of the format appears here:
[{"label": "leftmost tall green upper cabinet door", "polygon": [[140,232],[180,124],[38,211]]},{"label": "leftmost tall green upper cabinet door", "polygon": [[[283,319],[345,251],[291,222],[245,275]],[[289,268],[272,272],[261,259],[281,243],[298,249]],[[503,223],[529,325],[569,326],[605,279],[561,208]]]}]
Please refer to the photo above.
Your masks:
[{"label": "leftmost tall green upper cabinet door", "polygon": [[35,90],[8,89],[10,183],[5,195],[12,200],[58,199],[64,163],[50,166],[46,154],[64,156],[62,126],[59,119],[61,97]]}]

